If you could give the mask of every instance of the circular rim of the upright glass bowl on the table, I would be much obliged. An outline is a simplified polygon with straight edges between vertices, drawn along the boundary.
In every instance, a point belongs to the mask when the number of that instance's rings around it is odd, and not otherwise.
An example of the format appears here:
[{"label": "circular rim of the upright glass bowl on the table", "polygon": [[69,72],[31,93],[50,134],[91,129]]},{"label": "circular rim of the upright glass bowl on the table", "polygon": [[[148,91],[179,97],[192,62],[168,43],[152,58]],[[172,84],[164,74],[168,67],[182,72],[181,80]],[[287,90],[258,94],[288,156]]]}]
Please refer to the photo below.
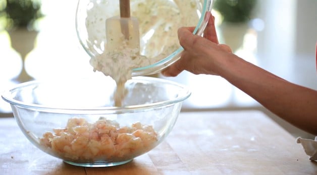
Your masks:
[{"label": "circular rim of the upright glass bowl on the table", "polygon": [[51,83],[51,82],[59,82],[57,80],[32,80],[28,82],[22,82],[20,84],[16,84],[11,88],[10,90],[5,91],[2,94],[2,98],[10,103],[11,105],[14,106],[19,106],[25,109],[33,109],[35,111],[46,111],[46,112],[55,112],[55,113],[65,113],[65,114],[120,114],[120,113],[129,113],[129,112],[136,112],[136,111],[142,111],[142,110],[149,110],[149,109],[154,109],[157,107],[162,107],[162,106],[168,106],[172,104],[176,104],[179,102],[182,102],[186,100],[190,95],[191,92],[187,88],[187,86],[180,84],[178,82],[174,82],[172,80],[168,79],[162,79],[162,78],[155,78],[155,77],[146,77],[146,76],[135,76],[132,77],[132,79],[139,80],[139,81],[151,81],[151,82],[156,82],[156,83],[167,83],[171,85],[178,86],[180,90],[183,92],[181,93],[181,96],[176,97],[171,100],[166,100],[166,101],[161,101],[161,102],[155,102],[155,103],[149,103],[149,104],[143,104],[143,105],[131,105],[131,106],[123,106],[123,107],[89,107],[89,108],[55,108],[55,107],[49,107],[46,105],[38,105],[38,104],[32,104],[28,102],[21,102],[19,100],[15,100],[12,97],[12,93],[24,88],[26,86],[30,86],[33,84],[39,84],[39,83]]}]

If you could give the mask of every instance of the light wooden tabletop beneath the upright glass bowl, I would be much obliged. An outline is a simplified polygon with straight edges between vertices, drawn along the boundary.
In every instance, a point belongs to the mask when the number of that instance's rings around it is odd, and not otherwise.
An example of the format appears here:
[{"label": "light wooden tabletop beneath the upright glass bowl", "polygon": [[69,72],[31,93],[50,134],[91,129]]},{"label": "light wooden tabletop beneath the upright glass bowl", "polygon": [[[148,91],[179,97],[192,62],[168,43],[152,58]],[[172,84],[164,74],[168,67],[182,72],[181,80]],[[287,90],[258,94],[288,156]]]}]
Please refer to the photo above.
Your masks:
[{"label": "light wooden tabletop beneath the upright glass bowl", "polygon": [[295,138],[259,111],[181,113],[167,139],[114,167],[69,165],[0,119],[0,174],[317,174]]}]

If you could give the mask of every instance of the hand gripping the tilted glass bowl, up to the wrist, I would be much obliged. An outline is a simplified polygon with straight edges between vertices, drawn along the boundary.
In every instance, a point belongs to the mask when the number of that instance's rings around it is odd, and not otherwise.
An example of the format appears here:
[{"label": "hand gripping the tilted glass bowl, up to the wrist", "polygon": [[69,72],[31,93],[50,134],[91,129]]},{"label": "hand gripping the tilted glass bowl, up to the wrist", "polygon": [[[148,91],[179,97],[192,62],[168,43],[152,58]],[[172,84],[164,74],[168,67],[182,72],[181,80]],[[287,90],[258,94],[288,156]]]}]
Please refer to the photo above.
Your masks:
[{"label": "hand gripping the tilted glass bowl, up to the wrist", "polygon": [[165,76],[177,76],[183,70],[194,74],[215,74],[215,59],[231,54],[229,46],[219,44],[215,18],[209,15],[203,37],[194,35],[195,27],[182,27],[178,30],[180,45],[184,48],[181,58],[162,71]]}]

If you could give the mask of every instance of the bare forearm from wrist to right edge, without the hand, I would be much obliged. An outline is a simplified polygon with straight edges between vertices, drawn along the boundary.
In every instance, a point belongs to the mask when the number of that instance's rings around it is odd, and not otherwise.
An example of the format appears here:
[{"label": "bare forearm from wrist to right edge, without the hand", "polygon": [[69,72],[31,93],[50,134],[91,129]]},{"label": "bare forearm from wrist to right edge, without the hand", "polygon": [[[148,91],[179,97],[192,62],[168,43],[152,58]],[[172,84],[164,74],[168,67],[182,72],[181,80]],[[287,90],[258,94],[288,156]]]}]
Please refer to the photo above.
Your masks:
[{"label": "bare forearm from wrist to right edge, without the hand", "polygon": [[317,135],[317,91],[286,81],[236,56],[222,65],[219,75],[279,117]]}]

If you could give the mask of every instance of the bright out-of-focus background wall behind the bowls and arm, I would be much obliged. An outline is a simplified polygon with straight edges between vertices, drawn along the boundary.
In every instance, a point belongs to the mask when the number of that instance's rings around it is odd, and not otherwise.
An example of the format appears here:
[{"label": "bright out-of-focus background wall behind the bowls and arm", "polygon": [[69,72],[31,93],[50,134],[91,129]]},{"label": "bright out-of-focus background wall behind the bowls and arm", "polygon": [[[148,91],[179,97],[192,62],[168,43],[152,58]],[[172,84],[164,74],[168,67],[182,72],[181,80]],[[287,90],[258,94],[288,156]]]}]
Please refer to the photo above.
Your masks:
[{"label": "bright out-of-focus background wall behind the bowls and arm", "polygon": [[[77,1],[34,1],[41,5],[35,13],[40,15],[31,28],[26,25],[23,29],[7,28],[4,11],[8,1],[0,0],[0,92],[33,79],[95,76],[75,31]],[[317,1],[244,2],[244,8],[236,15],[239,18],[232,20],[225,20],[228,13],[214,8],[220,41],[233,47],[235,53],[247,61],[317,90],[314,55]],[[252,6],[247,20],[239,20],[242,13],[249,11],[252,2],[256,5]],[[294,136],[309,136],[220,77],[182,72],[168,79],[188,85],[192,91],[191,97],[184,102],[183,111],[256,109],[268,114]],[[12,117],[10,106],[1,99],[0,117],[8,116]]]}]

